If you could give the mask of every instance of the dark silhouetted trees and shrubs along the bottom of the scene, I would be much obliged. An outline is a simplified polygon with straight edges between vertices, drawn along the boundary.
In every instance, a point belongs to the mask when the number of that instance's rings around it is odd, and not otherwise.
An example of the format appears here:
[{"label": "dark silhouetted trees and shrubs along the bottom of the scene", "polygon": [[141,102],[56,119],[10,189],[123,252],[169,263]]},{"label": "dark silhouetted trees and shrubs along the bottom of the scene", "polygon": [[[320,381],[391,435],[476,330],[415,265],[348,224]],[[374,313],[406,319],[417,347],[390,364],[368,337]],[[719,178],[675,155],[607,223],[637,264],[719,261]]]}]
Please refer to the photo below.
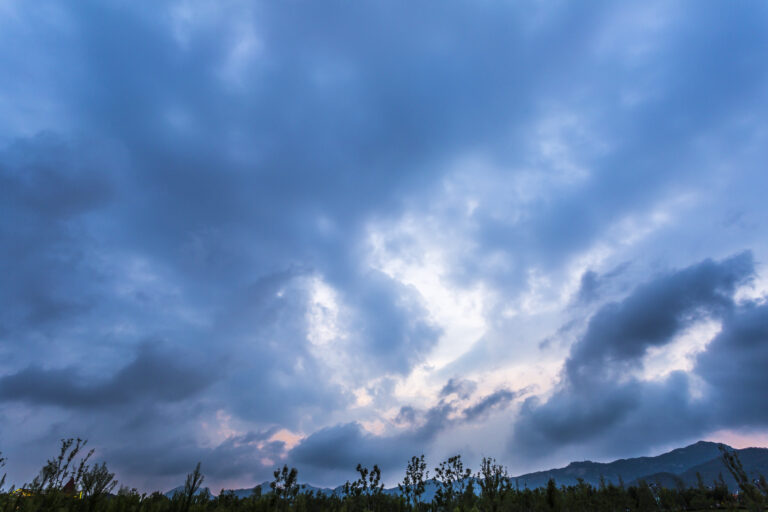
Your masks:
[{"label": "dark silhouetted trees and shrubs along the bottom of the scene", "polygon": [[[79,512],[629,512],[765,510],[768,485],[762,476],[750,481],[738,456],[721,446],[722,460],[739,484],[732,493],[718,478],[712,485],[701,479],[695,487],[664,488],[639,481],[636,485],[601,481],[595,487],[579,480],[558,486],[550,480],[543,488],[519,488],[506,469],[492,458],[483,458],[480,470],[464,467],[461,456],[451,457],[434,468],[434,496],[426,500],[430,472],[424,456],[412,457],[397,493],[384,490],[378,466],[357,466],[359,477],[346,482],[340,492],[307,491],[298,482],[298,471],[283,466],[274,472],[271,490],[256,487],[246,498],[232,491],[211,496],[201,488],[204,476],[198,463],[187,475],[183,490],[169,498],[159,492],[142,494],[117,487],[106,464],[90,464],[93,450],[86,442],[62,440],[59,454],[50,459],[35,479],[21,488],[4,489],[0,477],[0,511]],[[5,459],[0,454],[0,467]],[[201,490],[202,489],[202,490]]]}]

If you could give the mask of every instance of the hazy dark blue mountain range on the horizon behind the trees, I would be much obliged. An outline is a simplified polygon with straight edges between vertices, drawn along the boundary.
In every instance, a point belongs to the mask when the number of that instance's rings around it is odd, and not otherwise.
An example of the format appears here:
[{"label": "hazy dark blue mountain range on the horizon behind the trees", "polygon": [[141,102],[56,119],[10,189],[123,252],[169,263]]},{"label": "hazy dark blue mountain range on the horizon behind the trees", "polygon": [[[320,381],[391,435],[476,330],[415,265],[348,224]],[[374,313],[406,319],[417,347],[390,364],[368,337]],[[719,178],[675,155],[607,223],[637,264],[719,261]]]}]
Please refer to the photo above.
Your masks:
[{"label": "hazy dark blue mountain range on the horizon behind the trees", "polygon": [[[728,445],[725,446],[732,450]],[[744,469],[751,478],[757,478],[760,474],[768,475],[768,448],[745,448],[734,451],[738,453]],[[571,462],[564,468],[537,471],[512,477],[512,484],[517,485],[520,489],[525,487],[533,489],[546,486],[549,479],[553,478],[558,486],[575,485],[579,479],[598,486],[602,477],[606,483],[616,485],[618,485],[621,478],[626,485],[636,485],[642,479],[648,483],[655,483],[664,487],[675,487],[679,481],[685,487],[691,487],[698,483],[697,472],[701,475],[704,485],[713,485],[718,475],[722,474],[729,488],[737,488],[736,481],[720,459],[718,443],[707,441],[699,441],[690,446],[677,448],[655,457],[635,457],[605,463],[591,461]],[[269,482],[263,482],[258,487],[261,488],[262,494],[267,494],[271,491]],[[341,494],[341,486],[331,489],[307,485],[305,489],[328,495],[333,492]],[[173,496],[173,493],[177,490],[183,490],[183,486],[168,491],[166,496]],[[422,499],[430,501],[436,490],[437,483],[434,480],[427,481],[426,491]],[[246,498],[251,495],[253,488],[234,489],[232,492],[240,498]],[[384,492],[387,494],[399,494],[397,487],[385,489]]]}]

